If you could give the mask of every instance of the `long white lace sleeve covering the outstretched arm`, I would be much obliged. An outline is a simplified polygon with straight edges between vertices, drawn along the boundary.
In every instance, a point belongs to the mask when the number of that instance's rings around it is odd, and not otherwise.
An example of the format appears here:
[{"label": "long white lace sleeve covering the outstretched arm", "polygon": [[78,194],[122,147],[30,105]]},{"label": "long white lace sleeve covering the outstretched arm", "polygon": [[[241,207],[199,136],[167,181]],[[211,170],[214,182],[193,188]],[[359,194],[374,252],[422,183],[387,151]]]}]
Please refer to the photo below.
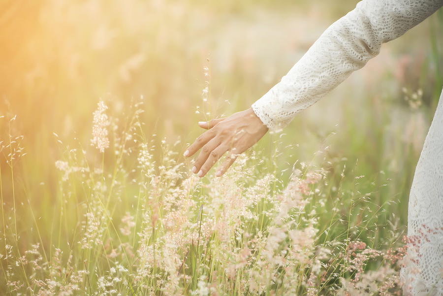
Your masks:
[{"label": "long white lace sleeve covering the outstretched arm", "polygon": [[271,130],[284,128],[380,53],[381,44],[416,26],[443,0],[363,0],[330,26],[286,76],[253,104]]}]

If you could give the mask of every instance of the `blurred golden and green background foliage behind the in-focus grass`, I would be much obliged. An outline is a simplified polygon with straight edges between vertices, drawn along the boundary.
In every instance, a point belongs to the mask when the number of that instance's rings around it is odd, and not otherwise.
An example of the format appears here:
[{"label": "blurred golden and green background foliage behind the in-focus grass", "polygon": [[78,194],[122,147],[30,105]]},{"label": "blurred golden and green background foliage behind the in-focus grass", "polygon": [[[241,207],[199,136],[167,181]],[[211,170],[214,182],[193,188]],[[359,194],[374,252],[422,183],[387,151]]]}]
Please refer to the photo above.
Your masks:
[{"label": "blurred golden and green background foliage behind the in-focus grass", "polygon": [[[18,201],[31,199],[44,215],[43,206],[57,196],[54,164],[65,149],[53,133],[87,149],[99,98],[115,118],[142,100],[146,135],[181,139],[183,162],[187,143],[201,132],[198,121],[249,108],[356,3],[2,0],[0,141],[24,136],[27,154],[14,166]],[[364,175],[355,191],[371,193],[374,206],[406,225],[414,168],[443,85],[442,23],[440,10],[384,44],[379,57],[255,149],[284,180],[300,160],[327,168],[338,184],[346,164],[348,191],[353,177]],[[211,73],[210,104],[201,98],[204,66]],[[12,203],[8,153],[0,158],[6,205]]]}]

